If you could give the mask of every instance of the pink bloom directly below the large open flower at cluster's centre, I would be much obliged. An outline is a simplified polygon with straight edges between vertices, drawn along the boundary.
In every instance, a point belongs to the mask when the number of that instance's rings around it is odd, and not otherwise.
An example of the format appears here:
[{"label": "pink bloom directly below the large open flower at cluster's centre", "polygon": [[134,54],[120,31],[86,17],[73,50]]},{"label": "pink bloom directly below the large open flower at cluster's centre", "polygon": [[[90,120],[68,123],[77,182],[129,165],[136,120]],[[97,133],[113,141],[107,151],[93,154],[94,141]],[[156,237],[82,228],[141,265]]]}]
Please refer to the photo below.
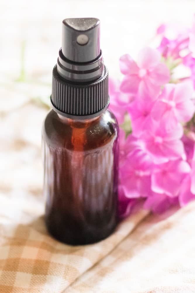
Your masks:
[{"label": "pink bloom directly below the large open flower at cluster's centre", "polygon": [[177,196],[180,190],[180,184],[190,170],[189,164],[182,160],[154,165],[151,175],[152,191],[171,197]]}]

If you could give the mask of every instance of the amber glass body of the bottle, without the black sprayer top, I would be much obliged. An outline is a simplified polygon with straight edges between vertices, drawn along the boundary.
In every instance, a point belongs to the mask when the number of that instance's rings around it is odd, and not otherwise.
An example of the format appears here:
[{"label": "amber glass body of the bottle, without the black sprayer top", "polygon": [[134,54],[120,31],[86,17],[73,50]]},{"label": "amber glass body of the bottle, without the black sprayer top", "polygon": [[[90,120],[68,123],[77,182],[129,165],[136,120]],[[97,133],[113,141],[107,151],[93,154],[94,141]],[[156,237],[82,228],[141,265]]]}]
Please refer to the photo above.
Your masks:
[{"label": "amber glass body of the bottle, without the black sprayer top", "polygon": [[106,110],[75,120],[51,110],[42,130],[46,225],[73,244],[106,238],[117,224],[118,123]]}]

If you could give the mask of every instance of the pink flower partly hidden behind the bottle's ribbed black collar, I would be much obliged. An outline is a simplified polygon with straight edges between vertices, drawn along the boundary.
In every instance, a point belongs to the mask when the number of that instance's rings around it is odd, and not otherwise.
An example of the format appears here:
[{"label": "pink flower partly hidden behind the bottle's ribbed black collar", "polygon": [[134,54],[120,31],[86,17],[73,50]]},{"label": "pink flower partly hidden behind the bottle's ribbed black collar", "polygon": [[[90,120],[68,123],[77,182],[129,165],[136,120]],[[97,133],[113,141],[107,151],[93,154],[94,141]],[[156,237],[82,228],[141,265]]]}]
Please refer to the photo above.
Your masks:
[{"label": "pink flower partly hidden behind the bottle's ribbed black collar", "polygon": [[114,113],[115,117],[118,120],[118,123],[121,124],[124,121],[124,115],[127,104],[132,100],[130,94],[125,94],[120,91],[120,82],[109,78],[108,89],[110,96],[109,109]]}]

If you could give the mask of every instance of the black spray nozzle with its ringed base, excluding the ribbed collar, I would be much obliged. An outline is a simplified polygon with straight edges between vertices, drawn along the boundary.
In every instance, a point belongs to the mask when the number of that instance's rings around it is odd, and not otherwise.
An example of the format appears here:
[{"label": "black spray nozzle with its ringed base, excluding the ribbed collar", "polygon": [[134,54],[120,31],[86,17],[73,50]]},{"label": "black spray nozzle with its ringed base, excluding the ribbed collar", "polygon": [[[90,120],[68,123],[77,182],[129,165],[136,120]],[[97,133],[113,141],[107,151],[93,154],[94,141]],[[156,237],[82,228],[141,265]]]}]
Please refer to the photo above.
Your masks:
[{"label": "black spray nozzle with its ringed base, excluding the ribbed collar", "polygon": [[69,81],[92,81],[103,73],[98,18],[66,18],[62,23],[62,47],[58,73]]}]

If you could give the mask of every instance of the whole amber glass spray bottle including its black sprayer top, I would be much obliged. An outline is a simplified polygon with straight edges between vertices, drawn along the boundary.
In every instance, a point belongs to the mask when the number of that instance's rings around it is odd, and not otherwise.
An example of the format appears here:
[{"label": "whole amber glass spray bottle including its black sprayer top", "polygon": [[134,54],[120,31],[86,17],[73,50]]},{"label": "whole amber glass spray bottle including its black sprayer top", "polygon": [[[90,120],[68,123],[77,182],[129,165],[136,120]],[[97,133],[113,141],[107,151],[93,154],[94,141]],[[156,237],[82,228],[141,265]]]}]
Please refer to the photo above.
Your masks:
[{"label": "whole amber glass spray bottle including its black sprayer top", "polygon": [[66,19],[63,35],[42,130],[46,225],[78,245],[104,239],[117,224],[118,124],[107,109],[99,20]]}]

